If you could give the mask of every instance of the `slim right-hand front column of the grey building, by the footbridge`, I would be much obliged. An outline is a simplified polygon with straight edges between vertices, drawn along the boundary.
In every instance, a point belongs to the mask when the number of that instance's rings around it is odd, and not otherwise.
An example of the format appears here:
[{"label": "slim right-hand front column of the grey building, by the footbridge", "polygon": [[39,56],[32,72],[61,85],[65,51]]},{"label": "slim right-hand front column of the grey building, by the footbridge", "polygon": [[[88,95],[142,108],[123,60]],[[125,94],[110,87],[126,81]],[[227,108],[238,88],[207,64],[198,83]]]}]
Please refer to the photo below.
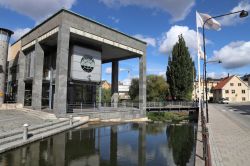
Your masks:
[{"label": "slim right-hand front column of the grey building, by the footbridge", "polygon": [[146,115],[146,86],[147,86],[147,73],[146,73],[146,52],[139,58],[139,106],[142,115]]}]

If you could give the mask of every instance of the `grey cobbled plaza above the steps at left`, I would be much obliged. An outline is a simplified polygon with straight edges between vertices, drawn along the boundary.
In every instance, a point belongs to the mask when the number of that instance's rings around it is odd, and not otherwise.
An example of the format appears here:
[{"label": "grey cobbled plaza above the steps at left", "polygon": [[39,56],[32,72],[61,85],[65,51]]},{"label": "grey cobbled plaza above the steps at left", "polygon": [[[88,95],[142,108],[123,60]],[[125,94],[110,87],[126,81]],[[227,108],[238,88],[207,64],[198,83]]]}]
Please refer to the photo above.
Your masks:
[{"label": "grey cobbled plaza above the steps at left", "polygon": [[0,110],[0,134],[20,129],[24,123],[29,125],[42,124],[45,121],[18,110]]}]

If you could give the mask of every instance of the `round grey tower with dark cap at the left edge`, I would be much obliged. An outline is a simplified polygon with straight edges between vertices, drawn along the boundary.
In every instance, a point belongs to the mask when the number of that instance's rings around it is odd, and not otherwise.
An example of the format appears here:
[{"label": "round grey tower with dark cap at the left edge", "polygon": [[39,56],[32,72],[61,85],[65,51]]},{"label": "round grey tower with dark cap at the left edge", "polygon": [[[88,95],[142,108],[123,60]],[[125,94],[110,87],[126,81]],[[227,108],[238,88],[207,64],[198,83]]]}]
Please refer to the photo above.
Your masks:
[{"label": "round grey tower with dark cap at the left edge", "polygon": [[0,106],[4,102],[6,61],[8,56],[10,36],[12,34],[12,31],[5,28],[0,28]]}]

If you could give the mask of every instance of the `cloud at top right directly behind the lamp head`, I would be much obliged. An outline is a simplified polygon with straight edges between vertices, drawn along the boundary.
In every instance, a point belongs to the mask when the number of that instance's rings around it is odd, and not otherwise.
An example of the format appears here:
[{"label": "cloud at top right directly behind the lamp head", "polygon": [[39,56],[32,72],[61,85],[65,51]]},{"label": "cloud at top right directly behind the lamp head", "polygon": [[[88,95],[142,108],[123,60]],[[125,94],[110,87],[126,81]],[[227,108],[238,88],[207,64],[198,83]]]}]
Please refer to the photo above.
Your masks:
[{"label": "cloud at top right directly behind the lamp head", "polygon": [[[236,11],[240,11],[240,10],[250,11],[250,3],[246,0],[243,0],[243,1],[239,2],[238,6],[234,7],[230,12],[236,12]],[[232,14],[232,15],[228,15],[226,17],[222,17],[218,21],[222,25],[229,26],[229,25],[236,25],[237,23],[242,22],[244,19],[239,18],[239,14]]]}]

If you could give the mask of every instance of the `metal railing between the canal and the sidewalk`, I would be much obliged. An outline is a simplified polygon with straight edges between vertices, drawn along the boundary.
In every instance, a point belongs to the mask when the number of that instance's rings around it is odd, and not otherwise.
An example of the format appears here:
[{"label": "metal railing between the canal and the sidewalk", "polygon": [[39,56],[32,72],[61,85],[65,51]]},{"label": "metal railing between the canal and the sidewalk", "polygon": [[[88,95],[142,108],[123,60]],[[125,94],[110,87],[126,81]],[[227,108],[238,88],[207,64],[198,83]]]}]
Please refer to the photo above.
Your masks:
[{"label": "metal railing between the canal and the sidewalk", "polygon": [[203,159],[205,160],[205,166],[212,166],[211,152],[209,144],[209,132],[206,126],[206,118],[203,111],[203,104],[201,104],[201,127],[202,127],[202,142],[203,142]]}]

